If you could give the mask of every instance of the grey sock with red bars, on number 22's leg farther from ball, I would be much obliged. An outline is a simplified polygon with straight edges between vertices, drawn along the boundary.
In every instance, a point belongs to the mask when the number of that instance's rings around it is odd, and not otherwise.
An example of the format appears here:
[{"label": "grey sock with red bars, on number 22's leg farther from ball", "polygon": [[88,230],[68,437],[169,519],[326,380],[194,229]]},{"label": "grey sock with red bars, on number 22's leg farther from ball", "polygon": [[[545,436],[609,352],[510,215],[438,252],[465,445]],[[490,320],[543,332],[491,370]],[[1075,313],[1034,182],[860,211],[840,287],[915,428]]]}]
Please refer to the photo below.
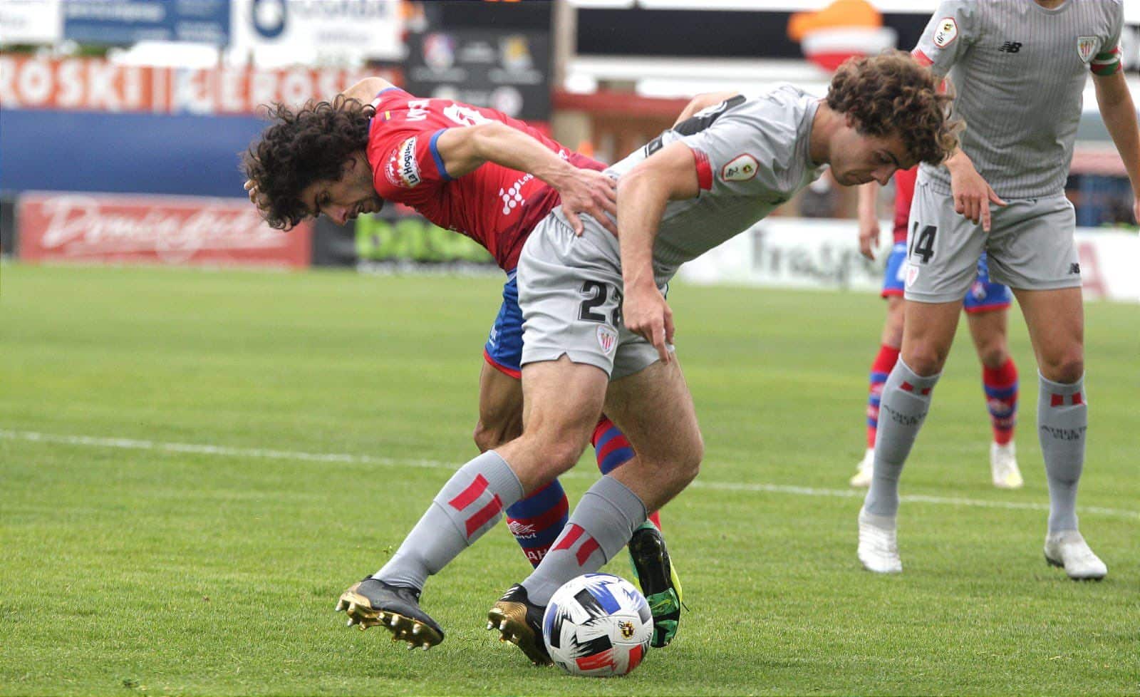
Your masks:
[{"label": "grey sock with red bars, on number 22's leg farther from ball", "polygon": [[495,451],[479,455],[447,480],[404,544],[374,575],[393,585],[423,589],[483,533],[495,527],[503,509],[522,499],[522,485]]}]

